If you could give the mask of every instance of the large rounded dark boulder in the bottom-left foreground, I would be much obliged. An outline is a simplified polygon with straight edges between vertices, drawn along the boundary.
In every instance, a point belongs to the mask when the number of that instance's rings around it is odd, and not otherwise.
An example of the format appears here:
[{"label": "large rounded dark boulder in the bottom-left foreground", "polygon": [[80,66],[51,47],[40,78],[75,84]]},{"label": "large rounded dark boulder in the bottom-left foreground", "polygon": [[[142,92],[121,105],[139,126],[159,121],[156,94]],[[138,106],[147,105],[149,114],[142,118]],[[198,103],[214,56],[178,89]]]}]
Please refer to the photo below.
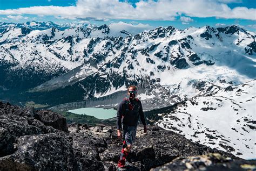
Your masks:
[{"label": "large rounded dark boulder in the bottom-left foreground", "polygon": [[[6,157],[5,160],[1,160],[1,166],[11,159],[15,163],[23,163],[27,168],[36,170],[73,170],[77,168],[72,147],[64,137],[55,133],[23,136],[18,139],[17,146],[15,153]],[[10,167],[5,169],[10,169]]]}]

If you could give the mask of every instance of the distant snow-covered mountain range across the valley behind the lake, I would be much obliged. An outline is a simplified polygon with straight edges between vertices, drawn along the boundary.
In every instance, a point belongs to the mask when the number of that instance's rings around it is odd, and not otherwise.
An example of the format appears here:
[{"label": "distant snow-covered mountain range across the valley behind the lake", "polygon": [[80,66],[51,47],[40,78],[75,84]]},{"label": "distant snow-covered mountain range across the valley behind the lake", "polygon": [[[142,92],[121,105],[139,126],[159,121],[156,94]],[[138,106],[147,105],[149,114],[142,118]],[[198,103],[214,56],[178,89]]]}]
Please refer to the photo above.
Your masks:
[{"label": "distant snow-covered mountain range across the valley behind the lake", "polygon": [[[220,79],[239,84],[255,77],[255,35],[237,26],[169,26],[136,35],[110,28],[6,28],[0,34],[2,89],[58,95],[72,85],[79,92],[72,101],[79,101],[143,83],[140,97],[158,108]],[[159,97],[159,92],[164,93]],[[72,102],[64,99],[59,103]]]}]

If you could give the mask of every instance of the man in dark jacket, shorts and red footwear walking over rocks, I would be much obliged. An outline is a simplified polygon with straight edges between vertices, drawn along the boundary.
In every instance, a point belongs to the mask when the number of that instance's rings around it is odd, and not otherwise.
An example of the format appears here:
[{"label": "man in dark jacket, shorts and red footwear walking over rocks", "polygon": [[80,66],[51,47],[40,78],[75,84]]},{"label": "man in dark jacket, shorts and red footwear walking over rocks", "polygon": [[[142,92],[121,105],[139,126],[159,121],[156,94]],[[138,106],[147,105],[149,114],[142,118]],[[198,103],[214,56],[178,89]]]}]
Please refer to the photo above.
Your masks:
[{"label": "man in dark jacket, shorts and red footwear walking over rocks", "polygon": [[136,98],[137,88],[136,86],[129,86],[127,90],[128,96],[119,104],[117,111],[117,137],[122,139],[122,133],[120,131],[122,120],[124,139],[120,159],[117,164],[118,168],[123,168],[125,165],[125,159],[131,150],[136,136],[139,118],[144,125],[144,133],[147,132],[142,102]]}]

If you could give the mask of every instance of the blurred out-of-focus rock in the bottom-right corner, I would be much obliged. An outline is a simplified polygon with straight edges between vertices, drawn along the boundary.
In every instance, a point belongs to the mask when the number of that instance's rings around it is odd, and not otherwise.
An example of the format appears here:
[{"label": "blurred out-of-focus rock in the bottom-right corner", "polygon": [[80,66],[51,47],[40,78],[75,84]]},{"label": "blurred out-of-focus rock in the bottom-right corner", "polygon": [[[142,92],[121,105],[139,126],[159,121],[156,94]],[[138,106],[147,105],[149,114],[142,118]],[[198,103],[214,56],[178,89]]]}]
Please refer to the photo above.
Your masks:
[{"label": "blurred out-of-focus rock in the bottom-right corner", "polygon": [[174,159],[172,162],[152,169],[158,170],[254,170],[256,160],[233,160],[220,154],[207,154]]}]

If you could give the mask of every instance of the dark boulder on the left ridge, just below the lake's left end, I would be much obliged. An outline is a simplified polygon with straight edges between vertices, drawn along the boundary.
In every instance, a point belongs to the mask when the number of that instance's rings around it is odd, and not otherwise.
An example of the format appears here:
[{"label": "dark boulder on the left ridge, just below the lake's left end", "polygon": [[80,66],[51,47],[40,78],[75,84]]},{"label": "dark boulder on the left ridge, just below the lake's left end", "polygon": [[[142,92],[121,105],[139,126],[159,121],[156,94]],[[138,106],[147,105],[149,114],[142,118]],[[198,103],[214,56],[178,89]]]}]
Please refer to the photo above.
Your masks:
[{"label": "dark boulder on the left ridge, just below the lake's left end", "polygon": [[52,112],[50,110],[39,110],[35,113],[35,118],[40,120],[45,125],[68,132],[66,119],[59,113]]}]

